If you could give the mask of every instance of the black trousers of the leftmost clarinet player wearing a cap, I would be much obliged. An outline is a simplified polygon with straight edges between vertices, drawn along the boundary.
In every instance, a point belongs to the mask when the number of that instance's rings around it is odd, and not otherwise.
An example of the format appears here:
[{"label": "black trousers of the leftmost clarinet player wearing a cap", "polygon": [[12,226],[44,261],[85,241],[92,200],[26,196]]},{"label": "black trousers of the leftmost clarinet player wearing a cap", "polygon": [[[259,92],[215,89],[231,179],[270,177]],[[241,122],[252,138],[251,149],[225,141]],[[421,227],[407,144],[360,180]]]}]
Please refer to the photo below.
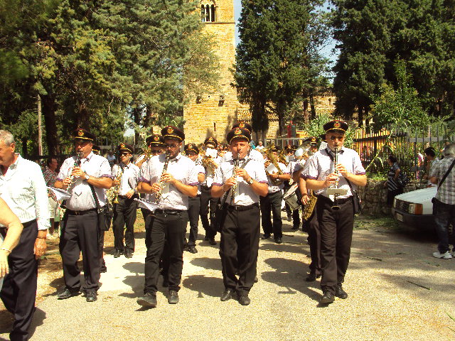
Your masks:
[{"label": "black trousers of the leftmost clarinet player wearing a cap", "polygon": [[66,287],[70,291],[80,289],[80,269],[77,266],[77,260],[82,251],[84,288],[86,291],[97,291],[100,288],[100,249],[98,247],[100,232],[97,212],[70,215],[67,210],[62,227],[60,254]]}]

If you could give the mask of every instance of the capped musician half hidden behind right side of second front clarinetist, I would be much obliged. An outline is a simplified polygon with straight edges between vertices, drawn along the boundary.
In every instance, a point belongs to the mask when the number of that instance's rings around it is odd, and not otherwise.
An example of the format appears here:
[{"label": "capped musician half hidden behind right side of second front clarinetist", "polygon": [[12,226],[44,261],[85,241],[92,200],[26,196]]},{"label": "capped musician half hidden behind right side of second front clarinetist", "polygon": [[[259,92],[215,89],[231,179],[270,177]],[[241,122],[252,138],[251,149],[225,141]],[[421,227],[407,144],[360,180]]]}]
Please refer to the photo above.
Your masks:
[{"label": "capped musician half hidden behind right side of second front clarinetist", "polygon": [[[199,156],[199,148],[196,144],[187,144],[184,148],[185,155],[190,158],[196,164],[196,160]],[[205,169],[202,165],[196,164],[197,173],[198,173],[198,182],[203,183],[205,180]],[[199,185],[198,185],[199,187]],[[199,212],[200,212],[200,190],[198,188],[198,195],[196,197],[188,197],[188,220],[190,221],[190,234],[188,236],[188,242],[186,242],[186,247],[192,254],[197,254],[198,249],[196,249],[196,239],[198,239],[198,222],[199,222]],[[185,228],[186,230],[186,228]],[[185,244],[185,243],[184,243]]]}]

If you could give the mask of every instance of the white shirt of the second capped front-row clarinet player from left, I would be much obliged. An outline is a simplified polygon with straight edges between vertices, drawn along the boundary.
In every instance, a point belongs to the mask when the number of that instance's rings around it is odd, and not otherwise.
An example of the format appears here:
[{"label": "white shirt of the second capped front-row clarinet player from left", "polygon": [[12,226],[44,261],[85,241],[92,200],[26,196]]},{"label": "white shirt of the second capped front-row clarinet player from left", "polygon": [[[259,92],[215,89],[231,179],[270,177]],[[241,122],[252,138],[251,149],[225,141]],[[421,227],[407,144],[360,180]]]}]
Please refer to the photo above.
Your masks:
[{"label": "white shirt of the second capped front-row clarinet player from left", "polygon": [[[164,161],[166,154],[154,156],[146,164],[144,172],[141,175],[141,181],[144,183],[157,183],[163,173]],[[178,154],[171,158],[168,163],[166,173],[171,174],[176,180],[184,185],[198,185],[198,168],[190,158]],[[184,195],[174,185],[164,183],[159,200],[161,210],[188,210],[188,195]]]}]

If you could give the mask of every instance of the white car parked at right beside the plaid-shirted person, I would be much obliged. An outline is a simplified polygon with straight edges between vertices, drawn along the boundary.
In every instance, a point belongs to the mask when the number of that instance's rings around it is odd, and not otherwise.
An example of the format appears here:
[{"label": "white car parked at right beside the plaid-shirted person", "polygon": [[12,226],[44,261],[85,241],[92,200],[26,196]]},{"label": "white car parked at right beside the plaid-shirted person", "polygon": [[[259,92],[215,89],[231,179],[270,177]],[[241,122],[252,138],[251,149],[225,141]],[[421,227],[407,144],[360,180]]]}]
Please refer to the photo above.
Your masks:
[{"label": "white car parked at right beside the plaid-shirted person", "polygon": [[411,227],[433,231],[432,198],[436,193],[437,187],[429,187],[397,195],[393,200],[393,217]]}]

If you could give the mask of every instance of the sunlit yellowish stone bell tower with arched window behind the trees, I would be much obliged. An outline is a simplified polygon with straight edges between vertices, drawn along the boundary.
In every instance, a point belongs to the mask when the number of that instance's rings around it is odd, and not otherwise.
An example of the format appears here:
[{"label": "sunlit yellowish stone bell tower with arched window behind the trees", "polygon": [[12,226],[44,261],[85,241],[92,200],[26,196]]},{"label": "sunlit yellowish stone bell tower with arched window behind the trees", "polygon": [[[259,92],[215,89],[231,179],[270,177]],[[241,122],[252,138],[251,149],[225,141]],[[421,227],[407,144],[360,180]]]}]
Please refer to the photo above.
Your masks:
[{"label": "sunlit yellowish stone bell tower with arched window behind the trees", "polygon": [[237,121],[237,90],[230,84],[230,69],[235,63],[235,19],[233,0],[200,0],[199,9],[204,30],[215,36],[220,60],[218,90],[191,99],[183,109],[185,142],[199,144],[208,136],[225,141],[226,133]]}]

